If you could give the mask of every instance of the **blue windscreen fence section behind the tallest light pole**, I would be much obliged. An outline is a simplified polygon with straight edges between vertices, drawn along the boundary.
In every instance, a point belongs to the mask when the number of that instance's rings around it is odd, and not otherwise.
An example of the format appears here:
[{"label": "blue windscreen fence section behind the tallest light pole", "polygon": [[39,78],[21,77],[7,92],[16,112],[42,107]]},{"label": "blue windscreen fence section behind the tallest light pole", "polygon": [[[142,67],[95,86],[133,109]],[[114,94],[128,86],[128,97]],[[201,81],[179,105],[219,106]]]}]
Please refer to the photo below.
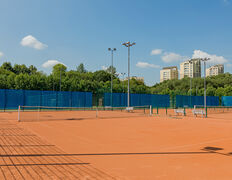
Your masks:
[{"label": "blue windscreen fence section behind the tallest light pole", "polygon": [[[169,95],[158,94],[130,94],[130,106],[169,107]],[[125,107],[127,106],[126,93],[104,93],[104,106]]]}]

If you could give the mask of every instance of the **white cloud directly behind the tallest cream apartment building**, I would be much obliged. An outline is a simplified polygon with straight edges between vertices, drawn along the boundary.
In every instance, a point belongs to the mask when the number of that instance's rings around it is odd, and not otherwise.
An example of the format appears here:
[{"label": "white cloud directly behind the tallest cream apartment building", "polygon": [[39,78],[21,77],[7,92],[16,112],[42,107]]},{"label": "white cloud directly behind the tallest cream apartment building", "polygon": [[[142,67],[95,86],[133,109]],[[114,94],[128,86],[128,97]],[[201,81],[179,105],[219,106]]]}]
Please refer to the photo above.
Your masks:
[{"label": "white cloud directly behind the tallest cream apartment building", "polygon": [[201,50],[194,50],[192,58],[210,58],[210,61],[213,63],[224,64],[227,63],[228,60],[225,59],[223,56],[217,56],[215,54],[208,54]]}]

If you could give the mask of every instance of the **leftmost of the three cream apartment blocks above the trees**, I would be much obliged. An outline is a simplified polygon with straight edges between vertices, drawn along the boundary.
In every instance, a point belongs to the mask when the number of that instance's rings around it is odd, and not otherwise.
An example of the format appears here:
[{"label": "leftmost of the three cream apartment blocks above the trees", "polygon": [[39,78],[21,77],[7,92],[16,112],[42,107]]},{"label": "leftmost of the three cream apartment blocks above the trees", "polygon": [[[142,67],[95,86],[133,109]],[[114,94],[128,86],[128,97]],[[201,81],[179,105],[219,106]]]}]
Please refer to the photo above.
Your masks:
[{"label": "leftmost of the three cream apartment blocks above the trees", "polygon": [[171,79],[178,79],[177,66],[164,67],[162,70],[160,70],[160,82]]}]

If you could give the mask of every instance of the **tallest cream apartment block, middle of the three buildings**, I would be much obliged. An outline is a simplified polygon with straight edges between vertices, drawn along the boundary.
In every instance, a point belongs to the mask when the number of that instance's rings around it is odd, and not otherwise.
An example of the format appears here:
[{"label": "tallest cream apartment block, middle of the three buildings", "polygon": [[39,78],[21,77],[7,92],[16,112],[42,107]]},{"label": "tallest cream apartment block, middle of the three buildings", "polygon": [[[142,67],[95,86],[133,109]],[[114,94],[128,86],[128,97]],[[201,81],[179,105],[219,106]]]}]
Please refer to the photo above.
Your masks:
[{"label": "tallest cream apartment block, middle of the three buildings", "polygon": [[180,79],[184,77],[201,77],[200,59],[190,59],[180,63]]}]

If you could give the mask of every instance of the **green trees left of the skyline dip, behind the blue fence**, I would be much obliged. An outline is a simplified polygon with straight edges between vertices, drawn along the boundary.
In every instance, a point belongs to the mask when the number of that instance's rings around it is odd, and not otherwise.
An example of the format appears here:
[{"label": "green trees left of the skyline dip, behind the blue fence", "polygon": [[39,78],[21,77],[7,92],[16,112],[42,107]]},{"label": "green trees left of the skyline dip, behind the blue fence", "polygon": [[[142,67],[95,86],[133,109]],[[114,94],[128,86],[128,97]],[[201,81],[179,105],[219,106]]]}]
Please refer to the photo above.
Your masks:
[{"label": "green trees left of the skyline dip, behind the blue fence", "polygon": [[[113,72],[113,92],[127,92],[127,81],[120,80],[115,67],[95,72],[87,71],[81,63],[76,70],[67,71],[63,64],[53,67],[47,75],[35,66],[11,65],[4,62],[0,67],[0,89],[85,91],[93,93],[110,92]],[[143,81],[132,79],[131,93],[150,93]]]}]

